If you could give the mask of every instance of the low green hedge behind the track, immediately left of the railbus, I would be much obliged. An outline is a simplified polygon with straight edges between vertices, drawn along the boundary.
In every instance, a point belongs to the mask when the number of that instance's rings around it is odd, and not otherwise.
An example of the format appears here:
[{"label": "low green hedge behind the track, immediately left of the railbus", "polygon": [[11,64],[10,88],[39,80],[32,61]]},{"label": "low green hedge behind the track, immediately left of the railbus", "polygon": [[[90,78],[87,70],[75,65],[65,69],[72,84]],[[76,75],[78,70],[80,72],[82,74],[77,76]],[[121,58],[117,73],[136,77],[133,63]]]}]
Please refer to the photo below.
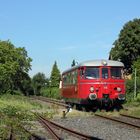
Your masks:
[{"label": "low green hedge behind the track, immediately left of the railbus", "polygon": [[60,89],[56,87],[43,88],[41,90],[41,95],[48,98],[61,99]]}]

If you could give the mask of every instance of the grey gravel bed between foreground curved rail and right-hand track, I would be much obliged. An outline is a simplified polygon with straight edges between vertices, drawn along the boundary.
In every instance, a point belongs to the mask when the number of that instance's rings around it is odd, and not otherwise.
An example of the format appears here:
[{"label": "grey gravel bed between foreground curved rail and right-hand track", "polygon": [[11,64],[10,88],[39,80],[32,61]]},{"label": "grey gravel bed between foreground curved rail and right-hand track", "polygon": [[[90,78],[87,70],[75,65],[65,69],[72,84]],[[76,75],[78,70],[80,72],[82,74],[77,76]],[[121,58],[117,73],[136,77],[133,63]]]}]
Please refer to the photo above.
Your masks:
[{"label": "grey gravel bed between foreground curved rail and right-hand track", "polygon": [[110,120],[90,117],[55,118],[56,123],[104,140],[140,140],[140,130]]}]

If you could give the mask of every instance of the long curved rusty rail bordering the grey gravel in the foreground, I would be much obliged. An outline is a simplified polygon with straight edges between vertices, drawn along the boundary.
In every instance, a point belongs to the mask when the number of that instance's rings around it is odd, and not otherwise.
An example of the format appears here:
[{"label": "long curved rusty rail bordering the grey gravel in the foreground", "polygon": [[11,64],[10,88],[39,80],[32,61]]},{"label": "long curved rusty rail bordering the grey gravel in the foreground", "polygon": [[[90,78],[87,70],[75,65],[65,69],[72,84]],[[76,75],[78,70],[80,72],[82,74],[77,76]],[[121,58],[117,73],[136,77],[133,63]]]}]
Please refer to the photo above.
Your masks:
[{"label": "long curved rusty rail bordering the grey gravel in the foreground", "polygon": [[74,131],[72,129],[68,129],[68,128],[66,128],[64,126],[61,126],[61,125],[59,125],[57,123],[54,123],[54,122],[52,122],[52,121],[50,121],[50,120],[48,120],[46,118],[43,118],[42,116],[39,116],[39,117],[42,118],[45,122],[50,123],[53,127],[57,128],[57,129],[62,129],[64,131],[66,131],[67,133],[69,133],[69,134],[71,134],[71,135],[73,135],[75,137],[78,137],[80,139],[83,139],[83,140],[101,140],[99,138],[92,137],[92,136],[89,136],[89,135],[85,135],[85,134],[82,134],[80,132]]}]

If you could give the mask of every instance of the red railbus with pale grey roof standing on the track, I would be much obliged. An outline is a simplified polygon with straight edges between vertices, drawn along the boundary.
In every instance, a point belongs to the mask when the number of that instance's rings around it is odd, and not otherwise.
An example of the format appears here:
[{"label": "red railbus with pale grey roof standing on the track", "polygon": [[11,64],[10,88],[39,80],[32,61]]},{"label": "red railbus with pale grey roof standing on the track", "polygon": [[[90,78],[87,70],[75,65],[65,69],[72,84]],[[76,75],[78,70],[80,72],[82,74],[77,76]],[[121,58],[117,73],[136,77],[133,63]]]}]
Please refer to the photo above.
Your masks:
[{"label": "red railbus with pale grey roof standing on the track", "polygon": [[82,62],[62,73],[62,97],[79,107],[121,104],[125,100],[123,68],[119,61]]}]

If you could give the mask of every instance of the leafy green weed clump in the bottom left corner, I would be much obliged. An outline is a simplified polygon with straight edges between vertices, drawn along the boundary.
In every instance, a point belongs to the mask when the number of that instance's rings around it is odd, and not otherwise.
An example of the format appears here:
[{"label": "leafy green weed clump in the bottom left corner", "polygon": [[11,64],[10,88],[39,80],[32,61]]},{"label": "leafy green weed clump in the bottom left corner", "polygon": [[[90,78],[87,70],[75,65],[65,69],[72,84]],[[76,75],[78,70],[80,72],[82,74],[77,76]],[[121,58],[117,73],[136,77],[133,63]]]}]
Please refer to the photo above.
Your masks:
[{"label": "leafy green weed clump in the bottom left corner", "polygon": [[18,134],[17,130],[20,130],[23,135],[25,135],[23,129],[20,126],[29,125],[27,121],[30,120],[31,116],[27,113],[27,110],[7,105],[5,108],[1,108],[0,114],[2,120],[1,125],[5,125],[5,127],[0,128],[0,136],[6,137],[10,131],[13,131],[14,134]]}]

